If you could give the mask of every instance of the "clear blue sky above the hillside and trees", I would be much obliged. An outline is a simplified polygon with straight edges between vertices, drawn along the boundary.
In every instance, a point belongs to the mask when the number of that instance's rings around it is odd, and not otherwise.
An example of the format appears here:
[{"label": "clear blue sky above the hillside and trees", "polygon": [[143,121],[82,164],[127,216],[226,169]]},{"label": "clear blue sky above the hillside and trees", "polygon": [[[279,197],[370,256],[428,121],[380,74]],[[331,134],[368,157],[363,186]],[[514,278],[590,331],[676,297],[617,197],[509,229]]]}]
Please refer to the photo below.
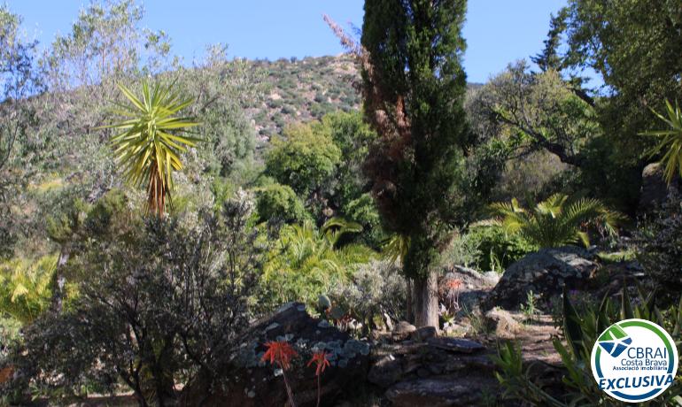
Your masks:
[{"label": "clear blue sky above the hillside and trees", "polygon": [[[2,1],[2,0],[0,0]],[[336,37],[322,21],[362,25],[362,0],[143,0],[144,27],[170,35],[174,53],[201,57],[205,45],[229,44],[229,54],[245,58],[336,55]],[[565,0],[469,0],[463,35],[469,81],[484,82],[509,62],[542,49],[549,15]],[[88,0],[9,0],[24,19],[27,34],[43,44],[65,34]]]}]

